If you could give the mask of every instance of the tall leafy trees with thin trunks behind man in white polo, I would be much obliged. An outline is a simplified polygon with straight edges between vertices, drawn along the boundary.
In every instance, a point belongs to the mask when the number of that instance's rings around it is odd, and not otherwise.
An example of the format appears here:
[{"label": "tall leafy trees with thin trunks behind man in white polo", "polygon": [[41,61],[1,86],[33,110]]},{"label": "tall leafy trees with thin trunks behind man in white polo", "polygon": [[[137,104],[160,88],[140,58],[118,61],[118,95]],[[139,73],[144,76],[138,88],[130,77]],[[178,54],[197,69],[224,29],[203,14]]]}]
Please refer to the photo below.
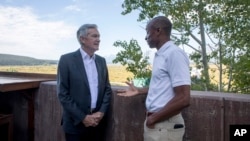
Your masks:
[{"label": "tall leafy trees with thin trunks behind man in white polo", "polygon": [[[239,88],[236,83],[240,77],[237,77],[235,65],[240,62],[239,58],[245,56],[246,50],[249,50],[249,1],[125,0],[122,7],[125,9],[123,15],[139,10],[138,21],[148,20],[156,15],[171,18],[174,29],[172,38],[176,43],[194,50],[190,57],[203,70],[201,82],[204,83],[204,90],[214,89],[209,76],[210,61],[218,64],[220,70],[219,91],[223,91],[225,86],[222,82],[224,73],[229,78],[228,90],[231,90],[232,85]],[[226,69],[223,69],[223,64]]]}]

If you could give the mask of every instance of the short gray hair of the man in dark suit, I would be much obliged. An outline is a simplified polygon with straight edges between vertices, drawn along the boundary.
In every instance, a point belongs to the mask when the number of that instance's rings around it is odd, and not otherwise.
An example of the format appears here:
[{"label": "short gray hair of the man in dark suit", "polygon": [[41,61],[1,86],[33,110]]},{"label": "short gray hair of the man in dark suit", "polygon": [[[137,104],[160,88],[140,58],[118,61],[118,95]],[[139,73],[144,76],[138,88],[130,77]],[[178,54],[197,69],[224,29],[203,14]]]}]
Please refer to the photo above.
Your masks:
[{"label": "short gray hair of the man in dark suit", "polygon": [[77,40],[80,44],[81,43],[81,37],[84,37],[84,36],[87,36],[88,34],[88,29],[90,28],[97,28],[97,25],[96,24],[84,24],[82,25],[76,32],[76,37],[77,37]]}]

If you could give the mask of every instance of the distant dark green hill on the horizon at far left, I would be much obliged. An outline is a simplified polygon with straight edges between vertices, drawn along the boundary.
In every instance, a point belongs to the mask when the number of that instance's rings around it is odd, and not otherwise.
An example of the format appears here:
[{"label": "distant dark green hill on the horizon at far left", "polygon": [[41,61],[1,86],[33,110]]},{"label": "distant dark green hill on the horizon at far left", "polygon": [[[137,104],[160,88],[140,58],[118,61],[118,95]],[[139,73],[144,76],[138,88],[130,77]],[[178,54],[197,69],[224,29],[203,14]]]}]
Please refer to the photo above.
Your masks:
[{"label": "distant dark green hill on the horizon at far left", "polygon": [[0,54],[0,65],[49,65],[49,64],[57,64],[57,60],[42,60],[35,59],[27,56],[19,56],[19,55],[10,55],[10,54]]}]

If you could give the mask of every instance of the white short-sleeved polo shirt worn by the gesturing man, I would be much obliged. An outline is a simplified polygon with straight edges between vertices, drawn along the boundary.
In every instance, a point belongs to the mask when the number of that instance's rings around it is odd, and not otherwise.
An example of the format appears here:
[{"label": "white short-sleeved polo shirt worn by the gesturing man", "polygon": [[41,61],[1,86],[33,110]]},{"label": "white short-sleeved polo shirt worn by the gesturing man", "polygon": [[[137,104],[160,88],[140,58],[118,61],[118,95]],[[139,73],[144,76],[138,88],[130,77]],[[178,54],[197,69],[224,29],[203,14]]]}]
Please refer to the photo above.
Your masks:
[{"label": "white short-sleeved polo shirt worn by the gesturing man", "polygon": [[181,85],[191,85],[189,59],[183,50],[168,41],[154,57],[147,111],[161,110],[174,97],[173,88]]}]

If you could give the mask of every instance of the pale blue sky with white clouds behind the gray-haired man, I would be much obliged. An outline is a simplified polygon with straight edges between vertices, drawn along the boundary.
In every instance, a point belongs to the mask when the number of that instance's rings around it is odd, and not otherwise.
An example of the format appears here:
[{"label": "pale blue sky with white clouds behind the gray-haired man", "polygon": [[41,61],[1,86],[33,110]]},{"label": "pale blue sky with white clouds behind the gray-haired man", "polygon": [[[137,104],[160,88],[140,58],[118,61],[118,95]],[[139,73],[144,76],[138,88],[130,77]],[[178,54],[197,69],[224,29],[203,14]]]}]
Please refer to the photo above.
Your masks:
[{"label": "pale blue sky with white clouds behind the gray-haired man", "polygon": [[101,34],[97,54],[108,58],[121,48],[115,41],[136,39],[143,52],[152,56],[146,41],[146,22],[139,13],[122,15],[123,0],[0,0],[0,53],[58,60],[76,51],[78,28],[97,24]]}]

